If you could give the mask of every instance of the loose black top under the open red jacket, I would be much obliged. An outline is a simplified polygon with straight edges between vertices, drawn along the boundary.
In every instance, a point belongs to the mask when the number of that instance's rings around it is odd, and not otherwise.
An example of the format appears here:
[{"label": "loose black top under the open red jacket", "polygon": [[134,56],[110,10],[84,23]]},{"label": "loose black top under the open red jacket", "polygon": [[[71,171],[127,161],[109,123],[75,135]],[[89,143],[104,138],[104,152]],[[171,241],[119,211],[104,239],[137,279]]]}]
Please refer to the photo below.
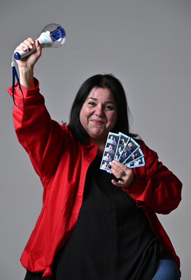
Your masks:
[{"label": "loose black top under the open red jacket", "polygon": [[[96,156],[87,170],[76,225],[54,258],[53,276],[47,280],[150,280],[156,261],[172,258],[143,210],[112,184],[117,179],[99,169],[100,164]],[[29,278],[32,275],[28,272],[25,280],[35,279]]]}]

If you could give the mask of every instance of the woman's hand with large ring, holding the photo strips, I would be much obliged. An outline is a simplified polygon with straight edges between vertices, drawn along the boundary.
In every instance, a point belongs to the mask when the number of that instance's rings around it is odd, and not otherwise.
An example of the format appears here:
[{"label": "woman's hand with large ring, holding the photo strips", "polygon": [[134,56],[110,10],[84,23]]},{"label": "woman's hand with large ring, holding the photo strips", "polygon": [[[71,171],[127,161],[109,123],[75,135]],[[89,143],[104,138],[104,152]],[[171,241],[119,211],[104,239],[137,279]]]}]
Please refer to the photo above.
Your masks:
[{"label": "woman's hand with large ring, holding the photo strips", "polygon": [[[115,175],[116,178],[121,177],[121,179],[122,179],[122,180],[119,179],[118,182],[116,182],[115,180],[112,180],[112,183],[118,187],[130,188],[130,186],[133,184],[133,182],[135,180],[135,175],[134,175],[133,170],[116,160],[113,160],[109,164],[111,167],[110,171],[113,173],[113,175]],[[125,172],[124,177],[121,176],[121,174],[120,174],[120,172],[122,172],[122,171]]]}]

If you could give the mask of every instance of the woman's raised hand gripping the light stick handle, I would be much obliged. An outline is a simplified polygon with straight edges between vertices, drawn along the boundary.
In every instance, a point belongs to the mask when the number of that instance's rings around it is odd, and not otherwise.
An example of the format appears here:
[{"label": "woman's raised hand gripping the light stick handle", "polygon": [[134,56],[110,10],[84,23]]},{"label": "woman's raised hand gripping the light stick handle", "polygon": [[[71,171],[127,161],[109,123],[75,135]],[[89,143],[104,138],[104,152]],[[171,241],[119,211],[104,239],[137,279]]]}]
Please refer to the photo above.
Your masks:
[{"label": "woman's raised hand gripping the light stick handle", "polygon": [[[30,51],[28,51],[29,49],[35,48],[35,52],[30,54]],[[34,68],[35,63],[37,62],[37,60],[40,58],[41,56],[41,51],[42,51],[42,46],[41,44],[38,42],[38,39],[36,39],[36,41],[33,40],[33,38],[28,38],[27,40],[24,40],[24,42],[22,42],[14,51],[26,51],[28,52],[30,55],[25,56],[22,59],[16,60],[17,64],[19,65],[19,71],[20,68]]]}]

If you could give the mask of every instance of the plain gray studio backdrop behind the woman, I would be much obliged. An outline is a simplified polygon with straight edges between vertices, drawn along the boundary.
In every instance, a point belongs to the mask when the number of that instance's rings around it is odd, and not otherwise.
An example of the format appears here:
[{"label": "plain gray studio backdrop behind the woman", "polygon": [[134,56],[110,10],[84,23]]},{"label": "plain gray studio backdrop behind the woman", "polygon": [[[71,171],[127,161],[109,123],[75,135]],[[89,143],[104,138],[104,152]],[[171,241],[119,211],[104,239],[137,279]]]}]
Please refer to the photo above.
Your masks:
[{"label": "plain gray studio backdrop behind the woman", "polygon": [[22,280],[19,258],[42,206],[42,186],[14,132],[13,51],[38,38],[50,23],[66,30],[66,43],[44,49],[34,75],[51,117],[67,121],[79,85],[113,73],[127,92],[132,130],[183,182],[182,201],[158,215],[190,280],[190,0],[1,0],[0,278]]}]

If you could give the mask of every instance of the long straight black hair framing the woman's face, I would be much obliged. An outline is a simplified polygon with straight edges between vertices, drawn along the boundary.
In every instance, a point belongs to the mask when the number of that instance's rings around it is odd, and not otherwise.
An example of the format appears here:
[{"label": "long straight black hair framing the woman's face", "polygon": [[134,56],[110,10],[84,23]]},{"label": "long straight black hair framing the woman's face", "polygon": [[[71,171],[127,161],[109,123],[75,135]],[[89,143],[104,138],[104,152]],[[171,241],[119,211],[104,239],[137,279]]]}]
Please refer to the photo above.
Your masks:
[{"label": "long straight black hair framing the woman's face", "polygon": [[76,94],[76,97],[70,110],[70,119],[68,127],[73,136],[75,137],[76,141],[80,141],[81,143],[89,142],[88,134],[80,122],[80,112],[85,100],[87,99],[88,94],[94,87],[109,88],[112,91],[117,102],[117,122],[111,132],[118,133],[120,131],[132,138],[140,139],[138,134],[130,132],[130,126],[132,124],[132,115],[130,113],[129,106],[127,104],[126,94],[121,82],[112,74],[98,74],[88,78],[85,82],[83,82]]}]

